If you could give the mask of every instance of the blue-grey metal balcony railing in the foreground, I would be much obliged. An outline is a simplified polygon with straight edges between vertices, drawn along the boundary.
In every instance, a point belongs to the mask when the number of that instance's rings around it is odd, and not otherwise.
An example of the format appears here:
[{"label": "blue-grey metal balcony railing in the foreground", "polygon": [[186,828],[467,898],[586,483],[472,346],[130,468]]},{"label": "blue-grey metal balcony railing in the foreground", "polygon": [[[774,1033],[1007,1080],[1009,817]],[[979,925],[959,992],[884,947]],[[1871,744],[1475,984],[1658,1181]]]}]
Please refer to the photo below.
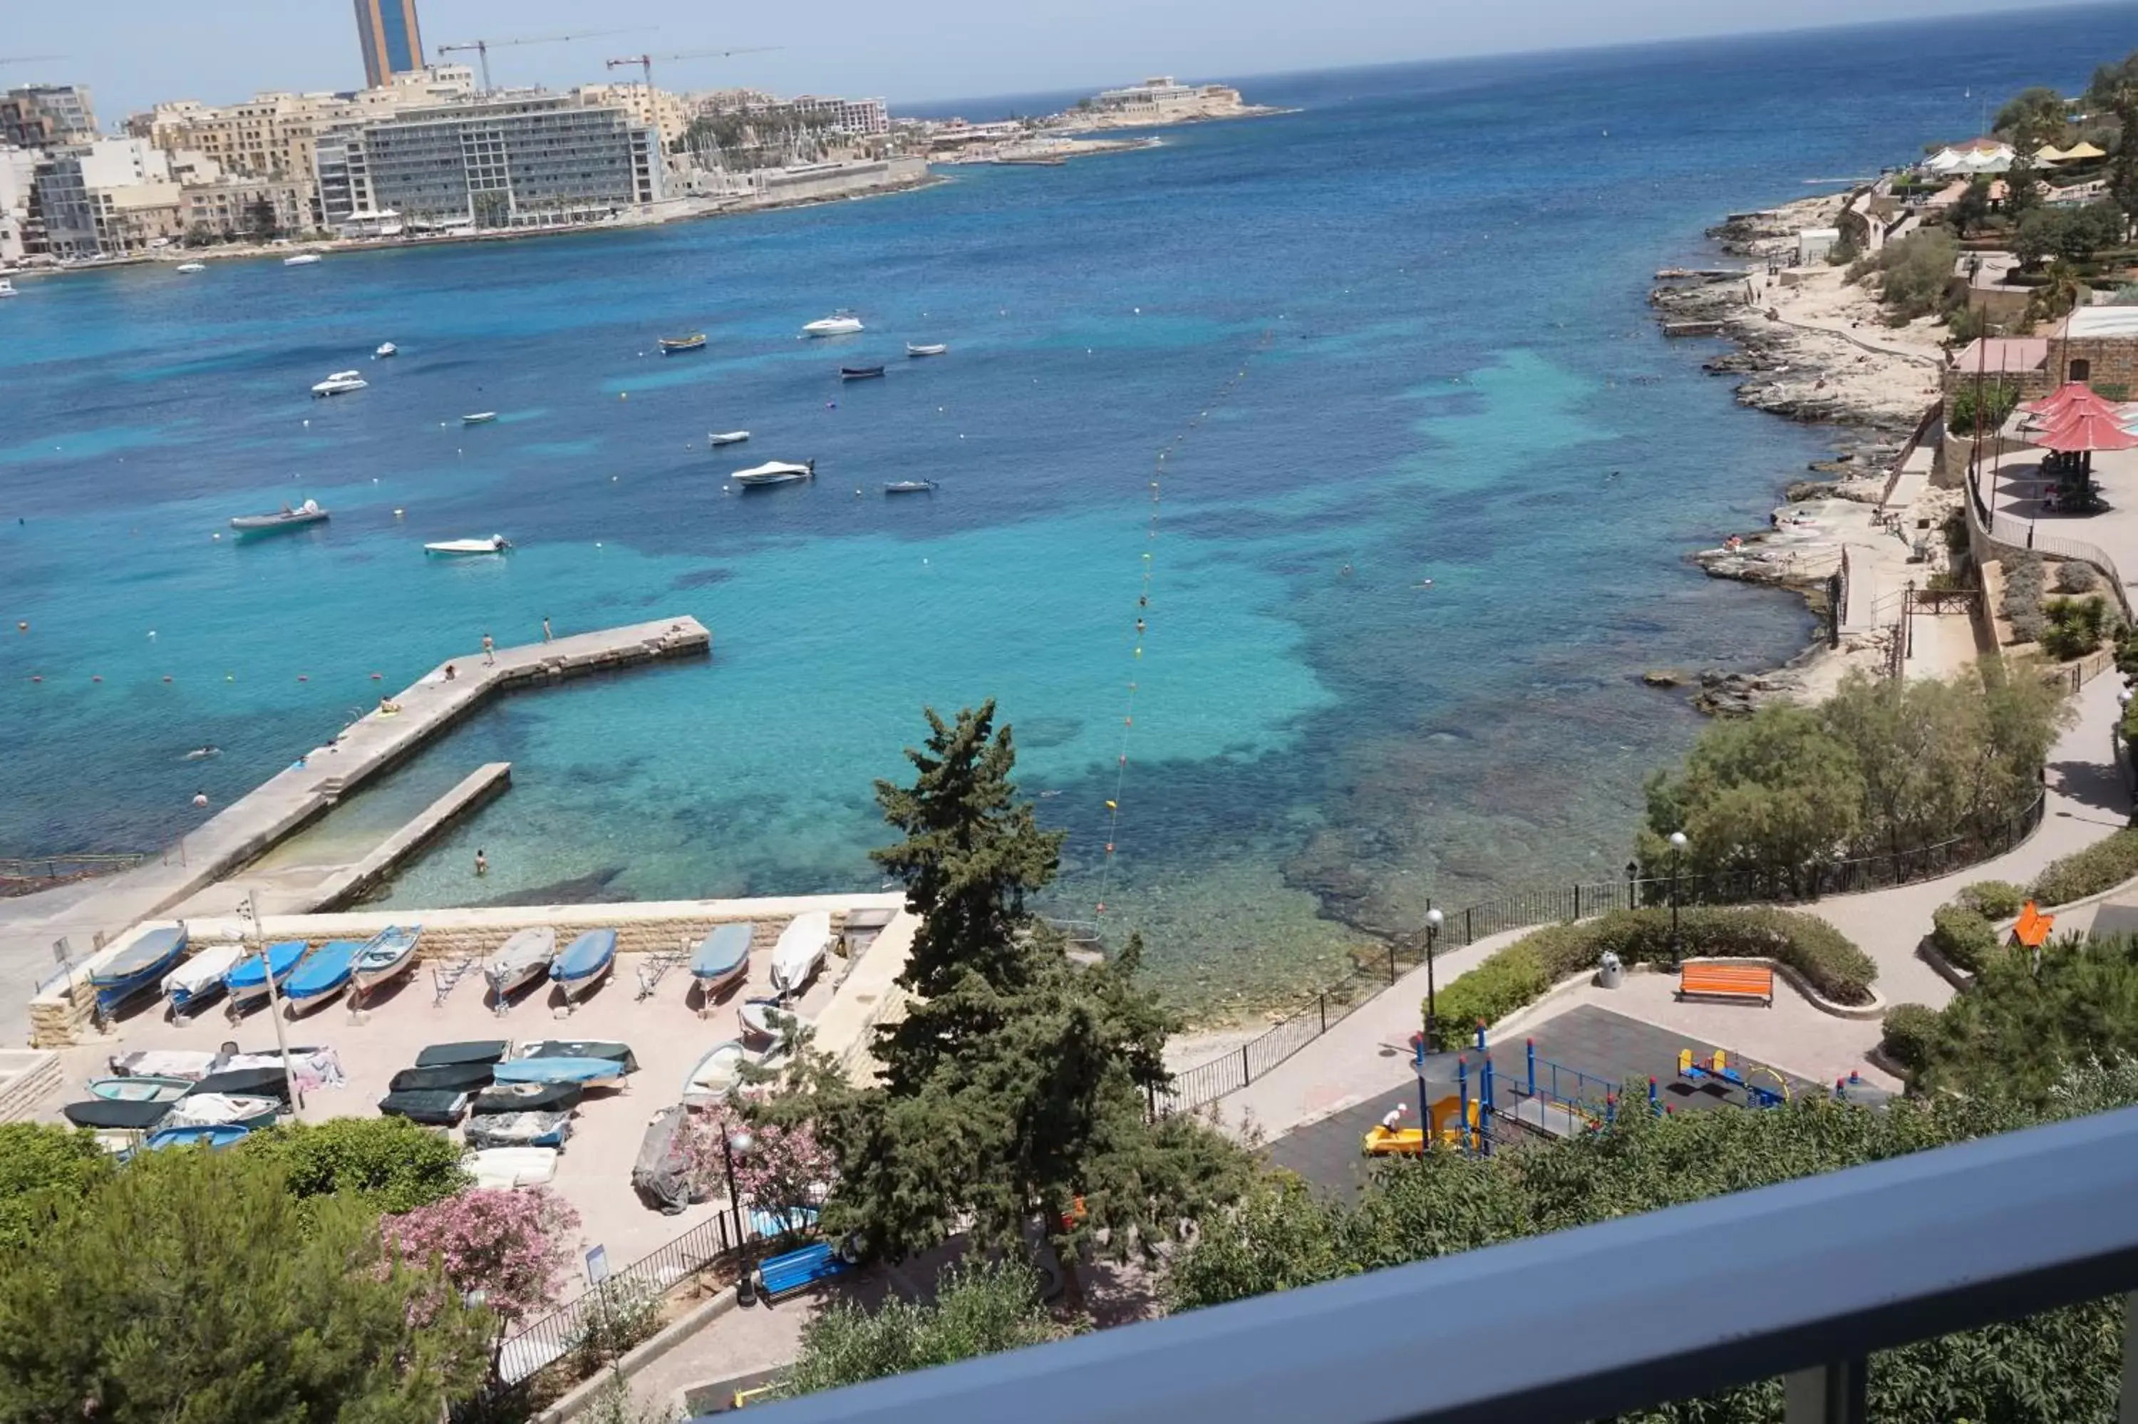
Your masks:
[{"label": "blue-grey metal balcony railing in the foreground", "polygon": [[[2138,1108],[774,1405],[808,1424],[1578,1424],[2138,1287]],[[2138,1420],[2123,1338],[2119,1420]],[[2074,1362],[2076,1366],[2076,1362]]]}]

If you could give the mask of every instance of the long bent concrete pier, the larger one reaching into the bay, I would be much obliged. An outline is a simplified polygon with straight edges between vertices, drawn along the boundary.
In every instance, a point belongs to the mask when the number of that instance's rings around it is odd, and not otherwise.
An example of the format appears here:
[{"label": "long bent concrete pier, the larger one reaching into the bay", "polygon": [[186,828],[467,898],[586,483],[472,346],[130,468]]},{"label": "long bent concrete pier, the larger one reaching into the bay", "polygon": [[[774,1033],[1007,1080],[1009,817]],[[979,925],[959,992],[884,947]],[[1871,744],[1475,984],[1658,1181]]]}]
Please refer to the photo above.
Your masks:
[{"label": "long bent concrete pier, the larger one reaching into the bay", "polygon": [[[98,934],[107,945],[115,943],[128,928],[227,879],[494,695],[639,663],[706,656],[710,650],[712,633],[695,618],[661,618],[547,644],[498,648],[487,659],[483,652],[455,656],[389,697],[398,712],[366,714],[190,832],[182,855],[56,892],[0,900],[0,1041],[19,1041],[26,1003],[36,981],[51,973],[51,943],[58,937],[68,939],[79,964]],[[451,678],[445,676],[447,667],[453,669]]]}]

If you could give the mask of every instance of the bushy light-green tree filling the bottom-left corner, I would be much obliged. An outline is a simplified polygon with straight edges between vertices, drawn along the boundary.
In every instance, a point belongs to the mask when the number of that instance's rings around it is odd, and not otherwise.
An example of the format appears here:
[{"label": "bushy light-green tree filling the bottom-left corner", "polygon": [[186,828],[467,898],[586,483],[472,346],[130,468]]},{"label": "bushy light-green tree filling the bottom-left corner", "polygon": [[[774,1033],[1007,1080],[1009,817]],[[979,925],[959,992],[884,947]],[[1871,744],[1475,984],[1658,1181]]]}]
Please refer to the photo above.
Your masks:
[{"label": "bushy light-green tree filling the bottom-left corner", "polygon": [[436,1424],[492,1315],[432,1309],[357,1199],[299,1204],[237,1152],[145,1152],[0,1247],[0,1420]]}]

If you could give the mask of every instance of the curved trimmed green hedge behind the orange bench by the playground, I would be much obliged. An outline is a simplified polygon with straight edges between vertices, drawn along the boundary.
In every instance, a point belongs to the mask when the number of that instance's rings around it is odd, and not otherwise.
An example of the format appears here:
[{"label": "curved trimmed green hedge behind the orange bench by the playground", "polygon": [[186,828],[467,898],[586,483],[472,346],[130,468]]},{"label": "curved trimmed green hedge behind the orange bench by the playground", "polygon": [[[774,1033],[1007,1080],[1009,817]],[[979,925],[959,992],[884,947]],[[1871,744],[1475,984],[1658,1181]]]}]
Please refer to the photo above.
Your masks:
[{"label": "curved trimmed green hedge behind the orange bench by the playground", "polygon": [[[1877,979],[1871,956],[1815,915],[1753,904],[1689,907],[1678,917],[1685,958],[1779,960],[1834,1003],[1871,1003],[1871,981]],[[1494,1024],[1561,979],[1595,969],[1606,951],[1616,954],[1621,964],[1668,964],[1670,911],[1614,911],[1524,934],[1439,990],[1439,1022]],[[1443,1039],[1450,1037],[1460,1033],[1443,1031]]]}]

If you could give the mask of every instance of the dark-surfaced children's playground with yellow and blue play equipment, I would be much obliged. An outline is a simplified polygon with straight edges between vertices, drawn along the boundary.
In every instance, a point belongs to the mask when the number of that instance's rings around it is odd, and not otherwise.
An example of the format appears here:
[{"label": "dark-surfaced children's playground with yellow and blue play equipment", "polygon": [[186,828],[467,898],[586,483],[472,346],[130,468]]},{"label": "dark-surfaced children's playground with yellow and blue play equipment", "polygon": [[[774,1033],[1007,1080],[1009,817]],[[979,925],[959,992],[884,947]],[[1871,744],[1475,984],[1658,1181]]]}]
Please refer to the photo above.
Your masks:
[{"label": "dark-surfaced children's playground with yellow and blue play equipment", "polygon": [[1270,1144],[1270,1161],[1328,1191],[1358,1191],[1379,1157],[1426,1142],[1490,1155],[1571,1137],[1623,1112],[1764,1112],[1807,1093],[1852,1101],[1862,1082],[1813,1084],[1734,1050],[1580,1005],[1533,1033],[1413,1061],[1413,1082],[1308,1123]]}]

